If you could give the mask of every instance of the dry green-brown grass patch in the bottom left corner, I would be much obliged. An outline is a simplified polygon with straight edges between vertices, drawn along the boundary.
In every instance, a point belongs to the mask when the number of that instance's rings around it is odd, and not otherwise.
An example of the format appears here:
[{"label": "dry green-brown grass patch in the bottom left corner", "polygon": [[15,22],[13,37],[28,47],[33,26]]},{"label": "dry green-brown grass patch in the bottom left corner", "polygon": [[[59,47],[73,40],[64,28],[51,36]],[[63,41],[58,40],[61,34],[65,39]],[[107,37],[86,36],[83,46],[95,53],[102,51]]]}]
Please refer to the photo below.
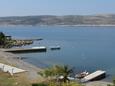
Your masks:
[{"label": "dry green-brown grass patch in the bottom left corner", "polygon": [[24,74],[10,76],[0,71],[0,86],[31,86]]}]

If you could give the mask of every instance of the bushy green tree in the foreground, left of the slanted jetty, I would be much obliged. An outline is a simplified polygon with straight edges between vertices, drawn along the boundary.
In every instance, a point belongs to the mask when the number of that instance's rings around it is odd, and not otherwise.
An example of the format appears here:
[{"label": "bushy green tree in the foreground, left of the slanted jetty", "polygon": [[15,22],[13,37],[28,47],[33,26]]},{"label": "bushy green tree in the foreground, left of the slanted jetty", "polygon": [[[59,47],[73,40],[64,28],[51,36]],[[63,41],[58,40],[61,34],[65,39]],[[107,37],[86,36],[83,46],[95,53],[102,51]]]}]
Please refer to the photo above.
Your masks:
[{"label": "bushy green tree in the foreground, left of the slanted jetty", "polygon": [[69,81],[68,76],[73,73],[73,68],[70,68],[68,65],[55,65],[53,67],[45,69],[42,73],[42,76],[52,78],[59,78],[63,76],[62,81],[67,82]]}]

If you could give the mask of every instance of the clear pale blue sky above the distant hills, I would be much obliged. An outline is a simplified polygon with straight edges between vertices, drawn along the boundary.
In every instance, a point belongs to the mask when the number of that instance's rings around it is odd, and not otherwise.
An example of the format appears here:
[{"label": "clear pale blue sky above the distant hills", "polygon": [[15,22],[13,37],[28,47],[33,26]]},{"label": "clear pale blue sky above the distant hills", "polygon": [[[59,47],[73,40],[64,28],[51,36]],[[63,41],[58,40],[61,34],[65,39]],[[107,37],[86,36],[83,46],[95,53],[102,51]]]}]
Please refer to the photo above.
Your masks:
[{"label": "clear pale blue sky above the distant hills", "polygon": [[115,14],[115,0],[0,0],[0,16]]}]

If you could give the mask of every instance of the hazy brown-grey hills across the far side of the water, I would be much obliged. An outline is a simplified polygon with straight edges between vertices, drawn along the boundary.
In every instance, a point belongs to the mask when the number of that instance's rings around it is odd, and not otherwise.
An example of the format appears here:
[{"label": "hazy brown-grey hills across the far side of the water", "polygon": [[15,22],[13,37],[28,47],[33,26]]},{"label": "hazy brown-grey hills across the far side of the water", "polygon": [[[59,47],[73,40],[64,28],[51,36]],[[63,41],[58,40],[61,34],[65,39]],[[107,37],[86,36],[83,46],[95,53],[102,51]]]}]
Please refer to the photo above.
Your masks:
[{"label": "hazy brown-grey hills across the far side of the water", "polygon": [[0,25],[115,25],[115,15],[0,17]]}]

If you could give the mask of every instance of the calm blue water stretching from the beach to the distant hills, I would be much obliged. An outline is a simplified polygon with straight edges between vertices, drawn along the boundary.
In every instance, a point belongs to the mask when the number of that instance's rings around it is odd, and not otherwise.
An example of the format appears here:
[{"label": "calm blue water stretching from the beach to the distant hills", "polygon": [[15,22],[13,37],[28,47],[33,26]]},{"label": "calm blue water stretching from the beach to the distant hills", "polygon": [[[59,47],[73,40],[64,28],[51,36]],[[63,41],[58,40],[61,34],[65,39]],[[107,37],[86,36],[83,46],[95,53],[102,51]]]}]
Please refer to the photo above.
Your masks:
[{"label": "calm blue water stretching from the beach to the distant hills", "polygon": [[14,38],[43,38],[31,46],[60,45],[61,50],[19,54],[39,67],[68,64],[77,71],[102,69],[115,76],[115,27],[17,26],[0,27]]}]

